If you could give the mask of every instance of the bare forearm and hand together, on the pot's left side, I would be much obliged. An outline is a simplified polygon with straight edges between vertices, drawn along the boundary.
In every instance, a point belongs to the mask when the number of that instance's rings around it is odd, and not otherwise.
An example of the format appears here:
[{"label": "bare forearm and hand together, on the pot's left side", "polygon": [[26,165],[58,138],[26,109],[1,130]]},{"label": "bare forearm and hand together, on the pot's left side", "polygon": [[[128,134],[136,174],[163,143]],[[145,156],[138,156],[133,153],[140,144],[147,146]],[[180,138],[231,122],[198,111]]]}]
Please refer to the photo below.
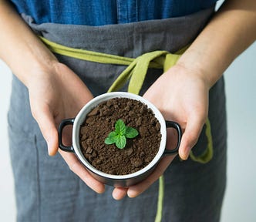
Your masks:
[{"label": "bare forearm and hand together, on the pot's left side", "polygon": [[[76,116],[93,95],[72,70],[57,61],[10,1],[0,1],[0,5],[0,30],[5,33],[0,35],[0,58],[28,87],[32,115],[48,144],[49,155],[54,155],[60,121]],[[64,143],[70,143],[65,133],[62,137]],[[104,192],[103,183],[93,179],[73,153],[59,153],[89,187]]]}]

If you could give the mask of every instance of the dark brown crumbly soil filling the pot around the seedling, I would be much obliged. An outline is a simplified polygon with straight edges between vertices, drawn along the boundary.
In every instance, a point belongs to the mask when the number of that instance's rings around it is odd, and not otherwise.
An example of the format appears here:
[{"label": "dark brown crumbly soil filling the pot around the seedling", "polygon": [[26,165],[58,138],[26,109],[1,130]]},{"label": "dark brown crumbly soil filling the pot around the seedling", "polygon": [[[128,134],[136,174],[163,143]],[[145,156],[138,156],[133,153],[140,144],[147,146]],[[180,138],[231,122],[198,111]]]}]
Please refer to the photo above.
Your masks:
[{"label": "dark brown crumbly soil filling the pot around the seedling", "polygon": [[[126,140],[124,149],[104,143],[118,119],[139,131],[138,136]],[[87,114],[80,128],[83,155],[93,167],[113,175],[130,174],[146,167],[156,156],[160,140],[157,118],[147,105],[135,99],[114,98],[99,104]]]}]

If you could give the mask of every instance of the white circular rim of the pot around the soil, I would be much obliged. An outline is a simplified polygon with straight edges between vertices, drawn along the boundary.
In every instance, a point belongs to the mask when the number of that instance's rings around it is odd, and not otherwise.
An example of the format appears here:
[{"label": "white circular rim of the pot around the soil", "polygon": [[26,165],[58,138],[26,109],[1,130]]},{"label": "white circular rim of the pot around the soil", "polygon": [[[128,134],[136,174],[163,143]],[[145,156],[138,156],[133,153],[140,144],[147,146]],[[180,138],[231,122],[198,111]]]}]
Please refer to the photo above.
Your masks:
[{"label": "white circular rim of the pot around the soil", "polygon": [[[109,173],[104,173],[100,170],[97,170],[93,165],[91,165],[87,160],[86,157],[83,156],[83,153],[80,148],[80,143],[79,143],[79,132],[80,132],[80,126],[86,119],[87,113],[89,113],[94,107],[96,107],[99,103],[102,103],[108,99],[113,99],[113,98],[129,98],[129,99],[136,99],[139,100],[141,103],[144,103],[147,105],[148,108],[152,109],[153,114],[155,117],[158,119],[160,123],[160,133],[162,135],[161,141],[160,141],[160,147],[157,152],[157,155],[153,158],[153,160],[143,169],[138,170],[134,173],[126,174],[126,175],[113,175]],[[163,118],[163,115],[160,113],[159,109],[157,109],[156,106],[154,106],[150,101],[147,99],[144,99],[142,96],[137,96],[136,94],[133,93],[126,93],[126,92],[113,92],[113,93],[104,93],[102,95],[96,96],[92,100],[89,101],[89,103],[86,103],[85,106],[79,111],[77,114],[75,120],[74,120],[74,125],[73,125],[73,130],[72,130],[72,146],[75,150],[76,156],[78,156],[79,160],[93,173],[98,174],[101,177],[105,177],[108,179],[113,179],[113,180],[127,180],[131,179],[134,177],[139,177],[140,175],[143,175],[143,173],[147,173],[150,169],[156,166],[156,164],[159,162],[161,157],[163,156],[163,152],[166,147],[166,142],[167,142],[167,127],[165,120]]]}]

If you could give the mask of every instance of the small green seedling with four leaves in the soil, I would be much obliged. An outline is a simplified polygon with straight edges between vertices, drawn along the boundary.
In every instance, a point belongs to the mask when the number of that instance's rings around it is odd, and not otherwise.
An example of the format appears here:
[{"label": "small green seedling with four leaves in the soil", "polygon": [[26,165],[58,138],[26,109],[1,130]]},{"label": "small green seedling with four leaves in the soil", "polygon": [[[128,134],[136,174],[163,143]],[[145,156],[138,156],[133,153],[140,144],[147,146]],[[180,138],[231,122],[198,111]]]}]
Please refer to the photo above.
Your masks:
[{"label": "small green seedling with four leaves in the soil", "polygon": [[109,133],[106,137],[106,144],[116,143],[117,148],[123,149],[126,146],[126,138],[133,139],[138,136],[139,132],[133,127],[126,126],[122,119],[118,119],[115,123],[115,131]]}]

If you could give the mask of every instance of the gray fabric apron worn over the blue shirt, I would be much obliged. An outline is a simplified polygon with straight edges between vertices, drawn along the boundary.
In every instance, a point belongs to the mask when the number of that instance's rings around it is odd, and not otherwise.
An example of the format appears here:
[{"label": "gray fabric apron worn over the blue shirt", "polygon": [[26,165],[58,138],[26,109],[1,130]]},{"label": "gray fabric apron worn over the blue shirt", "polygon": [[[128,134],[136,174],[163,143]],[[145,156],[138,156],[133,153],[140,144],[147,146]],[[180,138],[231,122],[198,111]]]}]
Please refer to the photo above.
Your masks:
[{"label": "gray fabric apron worn over the blue shirt", "polygon": [[[36,25],[30,27],[52,42],[77,49],[136,58],[145,52],[176,52],[193,42],[211,18],[210,8],[193,15],[123,25]],[[114,66],[56,55],[83,79],[94,96],[106,93],[126,66]],[[162,74],[149,69],[143,94]],[[126,87],[123,88],[126,91]],[[206,164],[178,158],[167,168],[162,221],[219,221],[226,183],[226,114],[224,79],[210,91],[209,119],[214,157]],[[73,117],[73,116],[70,116]],[[130,199],[113,200],[113,187],[97,194],[69,170],[62,157],[48,156],[45,140],[32,118],[28,90],[15,76],[8,113],[8,132],[15,177],[18,221],[154,221],[158,182]],[[204,130],[203,130],[204,132]],[[207,138],[201,133],[194,154],[204,152]]]}]

